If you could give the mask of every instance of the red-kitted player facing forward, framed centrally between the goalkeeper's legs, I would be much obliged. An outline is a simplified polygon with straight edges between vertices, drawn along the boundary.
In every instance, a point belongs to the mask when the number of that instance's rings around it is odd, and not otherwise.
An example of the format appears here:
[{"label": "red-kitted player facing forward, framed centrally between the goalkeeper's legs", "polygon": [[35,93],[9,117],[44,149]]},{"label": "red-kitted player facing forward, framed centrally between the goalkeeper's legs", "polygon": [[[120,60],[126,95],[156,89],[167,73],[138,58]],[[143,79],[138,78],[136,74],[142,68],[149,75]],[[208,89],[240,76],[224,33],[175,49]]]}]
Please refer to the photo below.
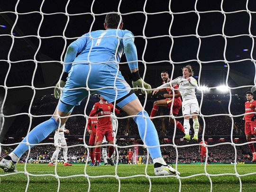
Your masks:
[{"label": "red-kitted player facing forward, framed centrally between the goalkeeper's legs", "polygon": [[[95,156],[96,156],[96,162],[94,163],[94,166],[98,166],[101,161],[101,147],[103,137],[106,137],[106,140],[109,142],[109,144],[114,144],[114,133],[112,130],[112,124],[111,124],[111,117],[110,113],[111,111],[115,110],[116,114],[120,113],[120,110],[117,110],[114,108],[112,103],[108,103],[102,96],[100,96],[101,101],[96,102],[91,110],[90,117],[94,115],[98,115],[98,123],[96,128],[96,146],[95,147]],[[108,115],[107,117],[102,117]],[[111,155],[113,154],[115,148],[113,146],[109,146],[109,153],[108,153],[108,164],[114,165]]]}]

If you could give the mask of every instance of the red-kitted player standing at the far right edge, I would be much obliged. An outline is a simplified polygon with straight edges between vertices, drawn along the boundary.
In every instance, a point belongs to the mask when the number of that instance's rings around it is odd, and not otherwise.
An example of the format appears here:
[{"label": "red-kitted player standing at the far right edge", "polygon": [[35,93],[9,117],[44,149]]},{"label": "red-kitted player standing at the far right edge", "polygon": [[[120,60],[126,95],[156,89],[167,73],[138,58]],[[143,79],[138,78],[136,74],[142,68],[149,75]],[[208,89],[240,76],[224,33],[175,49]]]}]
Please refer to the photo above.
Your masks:
[{"label": "red-kitted player standing at the far right edge", "polygon": [[[256,101],[253,100],[253,93],[248,91],[246,93],[246,99],[247,101],[245,102],[245,113],[250,113],[250,112],[256,112]],[[245,134],[246,134],[246,139],[247,142],[252,141],[252,135],[256,138],[256,114],[245,114],[244,118],[242,119],[245,121]],[[252,154],[253,154],[253,160],[256,161],[256,153],[255,149],[253,146],[253,143],[248,144],[250,147]]]}]

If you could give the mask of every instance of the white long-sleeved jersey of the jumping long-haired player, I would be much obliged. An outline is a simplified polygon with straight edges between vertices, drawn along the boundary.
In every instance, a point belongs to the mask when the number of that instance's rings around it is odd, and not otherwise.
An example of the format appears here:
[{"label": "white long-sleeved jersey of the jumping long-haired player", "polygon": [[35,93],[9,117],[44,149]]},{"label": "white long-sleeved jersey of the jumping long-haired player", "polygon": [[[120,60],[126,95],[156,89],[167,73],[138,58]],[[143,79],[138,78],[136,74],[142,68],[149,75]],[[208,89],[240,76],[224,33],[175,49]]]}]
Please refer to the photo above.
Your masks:
[{"label": "white long-sleeved jersey of the jumping long-haired player", "polygon": [[177,77],[176,79],[174,79],[171,82],[167,82],[167,83],[157,87],[157,89],[162,89],[164,87],[169,87],[171,85],[178,84],[179,85],[179,91],[181,92],[183,101],[196,99],[195,89],[198,87],[197,81],[193,77],[190,77],[190,79],[191,79],[191,81],[189,82],[183,76],[180,76],[180,77]]}]

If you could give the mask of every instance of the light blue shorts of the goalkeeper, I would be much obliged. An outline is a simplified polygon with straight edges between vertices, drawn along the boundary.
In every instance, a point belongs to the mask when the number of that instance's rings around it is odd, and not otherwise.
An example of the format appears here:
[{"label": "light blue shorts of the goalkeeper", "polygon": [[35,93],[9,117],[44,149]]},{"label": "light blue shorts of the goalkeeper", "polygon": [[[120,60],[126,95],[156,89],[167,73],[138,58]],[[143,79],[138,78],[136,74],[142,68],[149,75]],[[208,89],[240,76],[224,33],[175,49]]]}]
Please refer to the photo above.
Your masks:
[{"label": "light blue shorts of the goalkeeper", "polygon": [[[90,91],[86,88],[90,88]],[[91,64],[90,71],[89,64],[74,64],[68,74],[61,101],[68,105],[80,105],[88,94],[94,92],[109,103],[116,100],[120,108],[137,99],[118,69],[108,64]]]}]

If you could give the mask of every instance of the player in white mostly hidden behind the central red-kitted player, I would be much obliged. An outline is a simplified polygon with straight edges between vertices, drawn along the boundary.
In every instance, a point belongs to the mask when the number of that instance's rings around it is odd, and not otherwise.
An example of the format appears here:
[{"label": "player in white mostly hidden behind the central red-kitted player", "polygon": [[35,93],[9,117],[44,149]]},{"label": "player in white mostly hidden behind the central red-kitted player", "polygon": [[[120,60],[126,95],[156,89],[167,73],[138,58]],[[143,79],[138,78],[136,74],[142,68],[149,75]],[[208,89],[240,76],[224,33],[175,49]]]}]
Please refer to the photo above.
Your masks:
[{"label": "player in white mostly hidden behind the central red-kitted player", "polygon": [[[112,125],[112,129],[113,129],[113,133],[114,133],[114,144],[116,144],[116,136],[117,136],[117,128],[118,128],[118,119],[115,118],[114,113],[111,112],[111,125]],[[106,145],[108,144],[108,141],[106,140],[106,137],[104,136],[103,141],[102,141],[102,145]],[[107,146],[102,146],[102,156],[104,159],[104,165],[107,166],[108,165],[108,160],[107,160]],[[112,154],[112,161],[114,162],[115,160],[115,156],[116,156],[116,151],[113,152]]]}]

